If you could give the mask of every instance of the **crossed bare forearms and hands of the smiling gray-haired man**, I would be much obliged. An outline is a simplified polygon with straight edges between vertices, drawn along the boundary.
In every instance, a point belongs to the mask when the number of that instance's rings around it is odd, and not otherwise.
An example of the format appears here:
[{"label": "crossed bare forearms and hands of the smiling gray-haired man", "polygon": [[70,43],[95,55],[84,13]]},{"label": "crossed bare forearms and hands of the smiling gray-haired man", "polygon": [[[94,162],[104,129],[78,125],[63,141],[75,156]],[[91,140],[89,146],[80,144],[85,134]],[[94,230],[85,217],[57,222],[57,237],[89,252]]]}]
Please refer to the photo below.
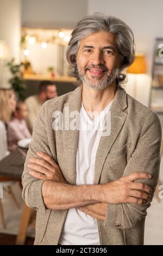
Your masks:
[{"label": "crossed bare forearms and hands of the smiling gray-haired man", "polygon": [[133,173],[103,185],[74,186],[67,184],[51,156],[41,152],[38,152],[37,156],[40,159],[29,159],[29,174],[45,180],[42,185],[42,197],[47,209],[79,208],[94,218],[104,220],[106,203],[144,204],[152,198],[151,187],[134,182],[136,179],[150,179],[151,174]]}]

